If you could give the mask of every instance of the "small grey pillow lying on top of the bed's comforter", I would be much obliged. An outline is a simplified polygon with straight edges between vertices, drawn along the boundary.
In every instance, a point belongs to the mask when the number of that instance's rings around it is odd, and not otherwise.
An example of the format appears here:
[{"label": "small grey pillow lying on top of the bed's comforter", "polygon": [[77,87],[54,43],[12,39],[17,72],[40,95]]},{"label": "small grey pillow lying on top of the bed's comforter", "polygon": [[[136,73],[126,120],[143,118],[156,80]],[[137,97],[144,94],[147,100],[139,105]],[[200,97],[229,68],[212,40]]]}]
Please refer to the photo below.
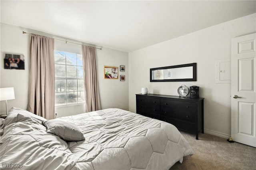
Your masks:
[{"label": "small grey pillow lying on top of the bed's comforter", "polygon": [[66,141],[85,140],[84,134],[74,123],[52,119],[44,122],[47,133],[55,134]]}]

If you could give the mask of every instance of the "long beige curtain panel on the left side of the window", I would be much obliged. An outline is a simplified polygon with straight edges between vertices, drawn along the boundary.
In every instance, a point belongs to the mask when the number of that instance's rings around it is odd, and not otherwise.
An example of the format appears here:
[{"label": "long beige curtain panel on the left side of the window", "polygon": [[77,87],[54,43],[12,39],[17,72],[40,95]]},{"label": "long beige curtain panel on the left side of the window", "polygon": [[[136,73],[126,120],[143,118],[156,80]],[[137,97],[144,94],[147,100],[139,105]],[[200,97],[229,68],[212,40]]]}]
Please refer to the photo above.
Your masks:
[{"label": "long beige curtain panel on the left side of the window", "polygon": [[54,39],[31,35],[28,111],[54,119]]}]

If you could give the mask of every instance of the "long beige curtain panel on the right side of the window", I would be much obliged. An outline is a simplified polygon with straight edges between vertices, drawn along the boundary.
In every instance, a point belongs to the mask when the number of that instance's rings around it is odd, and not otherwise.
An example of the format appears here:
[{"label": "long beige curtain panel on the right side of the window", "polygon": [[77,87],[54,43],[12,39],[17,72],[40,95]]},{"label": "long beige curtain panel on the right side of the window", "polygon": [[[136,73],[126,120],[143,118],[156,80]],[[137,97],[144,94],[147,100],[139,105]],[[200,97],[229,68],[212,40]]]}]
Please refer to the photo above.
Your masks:
[{"label": "long beige curtain panel on the right side of the window", "polygon": [[100,94],[96,71],[95,48],[82,45],[84,67],[85,111],[100,110]]}]

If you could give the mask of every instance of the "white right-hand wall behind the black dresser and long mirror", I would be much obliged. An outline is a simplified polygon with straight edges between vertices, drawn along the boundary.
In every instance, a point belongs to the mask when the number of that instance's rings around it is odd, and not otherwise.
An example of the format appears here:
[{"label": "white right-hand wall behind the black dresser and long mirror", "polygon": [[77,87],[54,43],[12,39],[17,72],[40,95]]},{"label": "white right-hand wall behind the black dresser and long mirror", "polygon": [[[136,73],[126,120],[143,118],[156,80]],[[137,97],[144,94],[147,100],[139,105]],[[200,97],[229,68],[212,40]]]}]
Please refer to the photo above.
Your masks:
[{"label": "white right-hand wall behind the black dresser and long mirror", "polygon": [[[230,136],[230,83],[215,83],[215,60],[231,58],[231,39],[256,32],[256,14],[218,24],[185,36],[129,53],[129,110],[136,111],[141,87],[154,94],[178,95],[185,84],[200,86],[204,97],[204,130],[217,136]],[[154,67],[197,63],[197,81],[150,82]]]}]

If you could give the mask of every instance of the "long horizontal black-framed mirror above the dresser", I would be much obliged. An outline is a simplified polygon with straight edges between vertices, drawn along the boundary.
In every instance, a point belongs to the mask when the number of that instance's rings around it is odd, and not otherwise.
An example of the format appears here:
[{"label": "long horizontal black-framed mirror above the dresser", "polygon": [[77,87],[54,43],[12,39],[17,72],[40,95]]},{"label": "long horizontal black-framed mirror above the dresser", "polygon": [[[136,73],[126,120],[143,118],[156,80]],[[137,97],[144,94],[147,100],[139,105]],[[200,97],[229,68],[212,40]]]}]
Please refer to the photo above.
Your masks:
[{"label": "long horizontal black-framed mirror above the dresser", "polygon": [[196,63],[150,69],[150,82],[196,81]]}]

